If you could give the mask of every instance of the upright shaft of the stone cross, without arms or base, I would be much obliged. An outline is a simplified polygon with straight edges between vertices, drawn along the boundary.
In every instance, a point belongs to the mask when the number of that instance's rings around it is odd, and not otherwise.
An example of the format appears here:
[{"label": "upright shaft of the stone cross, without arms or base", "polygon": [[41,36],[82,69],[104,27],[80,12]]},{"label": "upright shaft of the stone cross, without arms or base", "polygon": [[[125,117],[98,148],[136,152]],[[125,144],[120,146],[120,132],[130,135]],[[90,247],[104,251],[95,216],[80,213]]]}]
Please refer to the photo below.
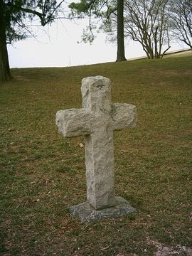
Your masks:
[{"label": "upright shaft of the stone cross, without arms or base", "polygon": [[96,210],[114,206],[114,151],[110,80],[82,80],[82,105],[94,113],[92,133],[85,135],[87,200]]}]

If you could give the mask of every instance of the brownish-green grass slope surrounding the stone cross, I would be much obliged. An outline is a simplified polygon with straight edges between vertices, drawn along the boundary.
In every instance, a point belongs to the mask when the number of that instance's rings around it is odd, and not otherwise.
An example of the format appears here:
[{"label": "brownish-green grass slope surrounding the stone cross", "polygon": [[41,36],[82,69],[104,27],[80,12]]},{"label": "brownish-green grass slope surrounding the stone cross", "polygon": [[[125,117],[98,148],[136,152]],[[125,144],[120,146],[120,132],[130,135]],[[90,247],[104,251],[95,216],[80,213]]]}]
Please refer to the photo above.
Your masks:
[{"label": "brownish-green grass slope surrounding the stone cross", "polygon": [[[11,72],[0,255],[191,255],[192,57]],[[112,80],[113,102],[137,106],[137,128],[114,132],[115,191],[137,213],[80,224],[68,206],[86,201],[83,138],[61,137],[55,113],[81,107],[80,82],[94,75]]]}]

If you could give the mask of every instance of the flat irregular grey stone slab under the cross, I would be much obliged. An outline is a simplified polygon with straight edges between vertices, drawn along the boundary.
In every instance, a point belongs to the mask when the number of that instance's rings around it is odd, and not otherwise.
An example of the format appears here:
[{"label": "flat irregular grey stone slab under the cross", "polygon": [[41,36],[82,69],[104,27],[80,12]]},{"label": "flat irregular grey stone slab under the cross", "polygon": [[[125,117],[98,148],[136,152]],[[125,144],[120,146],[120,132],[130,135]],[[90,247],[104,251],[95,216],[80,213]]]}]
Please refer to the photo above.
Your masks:
[{"label": "flat irregular grey stone slab under the cross", "polygon": [[117,196],[115,197],[115,200],[115,206],[101,210],[95,210],[90,206],[89,202],[70,206],[69,209],[70,213],[72,213],[75,218],[79,218],[81,223],[89,222],[91,220],[100,220],[101,218],[114,218],[136,212],[136,209],[124,198]]}]

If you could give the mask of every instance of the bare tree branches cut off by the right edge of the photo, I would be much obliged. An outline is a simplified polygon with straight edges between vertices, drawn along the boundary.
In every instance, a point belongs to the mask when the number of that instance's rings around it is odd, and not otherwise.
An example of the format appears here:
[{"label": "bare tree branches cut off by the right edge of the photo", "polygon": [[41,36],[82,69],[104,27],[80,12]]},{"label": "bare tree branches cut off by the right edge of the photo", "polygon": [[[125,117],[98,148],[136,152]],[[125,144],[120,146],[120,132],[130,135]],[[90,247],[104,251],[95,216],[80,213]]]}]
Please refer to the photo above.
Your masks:
[{"label": "bare tree branches cut off by the right edge of the photo", "polygon": [[183,41],[192,50],[192,2],[171,0],[169,3],[171,31],[174,38]]}]

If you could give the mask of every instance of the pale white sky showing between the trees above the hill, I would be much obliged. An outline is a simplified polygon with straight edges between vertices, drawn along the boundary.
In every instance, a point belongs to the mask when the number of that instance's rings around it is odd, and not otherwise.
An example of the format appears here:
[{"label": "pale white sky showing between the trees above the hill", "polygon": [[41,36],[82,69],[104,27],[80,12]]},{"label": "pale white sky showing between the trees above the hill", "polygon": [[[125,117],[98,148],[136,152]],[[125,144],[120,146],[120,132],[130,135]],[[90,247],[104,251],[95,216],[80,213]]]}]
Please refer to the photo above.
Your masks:
[{"label": "pale white sky showing between the trees above the hill", "polygon": [[[106,42],[105,33],[98,33],[95,41],[78,43],[81,41],[85,21],[56,21],[46,28],[48,35],[38,31],[38,37],[18,41],[14,46],[8,46],[9,64],[11,68],[33,67],[65,67],[73,65],[88,65],[115,61],[117,46]],[[171,44],[172,50],[186,48],[180,44]],[[142,46],[130,41],[125,43],[125,57],[137,58],[144,56]]]}]

